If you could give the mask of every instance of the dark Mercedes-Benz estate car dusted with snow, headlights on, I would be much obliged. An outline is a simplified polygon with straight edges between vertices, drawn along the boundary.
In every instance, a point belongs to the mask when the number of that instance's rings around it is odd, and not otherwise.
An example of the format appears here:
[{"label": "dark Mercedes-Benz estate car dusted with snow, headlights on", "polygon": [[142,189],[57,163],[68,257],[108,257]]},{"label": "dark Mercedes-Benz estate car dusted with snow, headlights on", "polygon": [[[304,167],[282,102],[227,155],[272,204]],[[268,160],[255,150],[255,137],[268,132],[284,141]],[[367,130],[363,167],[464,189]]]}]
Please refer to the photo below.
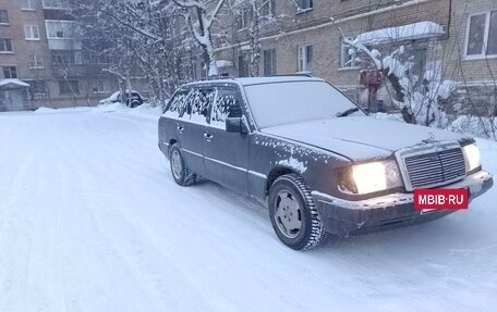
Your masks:
[{"label": "dark Mercedes-Benz estate car dusted with snow, headlights on", "polygon": [[453,212],[414,209],[416,188],[465,188],[473,199],[493,185],[472,138],[367,116],[315,77],[185,84],[158,135],[179,185],[202,176],[258,199],[279,239],[298,250],[326,233],[348,236]]}]

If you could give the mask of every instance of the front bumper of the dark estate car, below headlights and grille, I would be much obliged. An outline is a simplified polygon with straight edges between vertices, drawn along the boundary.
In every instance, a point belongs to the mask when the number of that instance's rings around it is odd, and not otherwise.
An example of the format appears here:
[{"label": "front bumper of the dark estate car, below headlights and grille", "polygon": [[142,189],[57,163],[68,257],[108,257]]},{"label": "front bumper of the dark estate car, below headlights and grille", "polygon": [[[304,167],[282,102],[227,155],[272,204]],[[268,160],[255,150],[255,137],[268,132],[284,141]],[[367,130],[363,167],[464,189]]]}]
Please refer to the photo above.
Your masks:
[{"label": "front bumper of the dark estate car, below headlights and grille", "polygon": [[[494,185],[492,174],[480,171],[443,188],[468,188],[470,201]],[[413,205],[413,194],[391,194],[361,201],[348,201],[313,191],[325,230],[339,236],[371,233],[428,222],[456,210],[421,213]]]}]

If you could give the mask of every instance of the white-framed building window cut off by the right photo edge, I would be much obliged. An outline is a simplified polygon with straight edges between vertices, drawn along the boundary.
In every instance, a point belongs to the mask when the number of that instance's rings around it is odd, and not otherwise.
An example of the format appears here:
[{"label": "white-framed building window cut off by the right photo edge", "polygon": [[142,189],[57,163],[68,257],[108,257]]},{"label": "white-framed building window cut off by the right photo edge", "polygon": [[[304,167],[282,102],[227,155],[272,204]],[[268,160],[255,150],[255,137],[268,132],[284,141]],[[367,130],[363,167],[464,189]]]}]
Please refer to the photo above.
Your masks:
[{"label": "white-framed building window cut off by the right photo edge", "polygon": [[497,55],[497,11],[469,16],[465,48],[469,58]]}]

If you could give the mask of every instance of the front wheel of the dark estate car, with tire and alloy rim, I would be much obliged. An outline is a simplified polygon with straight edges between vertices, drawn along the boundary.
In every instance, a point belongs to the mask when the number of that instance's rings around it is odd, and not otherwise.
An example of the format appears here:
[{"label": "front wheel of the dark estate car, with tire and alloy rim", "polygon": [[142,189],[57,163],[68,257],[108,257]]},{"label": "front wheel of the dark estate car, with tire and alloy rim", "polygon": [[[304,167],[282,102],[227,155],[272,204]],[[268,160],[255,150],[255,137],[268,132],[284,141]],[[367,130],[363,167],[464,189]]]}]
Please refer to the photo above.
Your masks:
[{"label": "front wheel of the dark estate car, with tire and alloy rim", "polygon": [[296,174],[278,177],[269,189],[269,216],[278,238],[295,250],[308,250],[325,229],[305,180]]}]

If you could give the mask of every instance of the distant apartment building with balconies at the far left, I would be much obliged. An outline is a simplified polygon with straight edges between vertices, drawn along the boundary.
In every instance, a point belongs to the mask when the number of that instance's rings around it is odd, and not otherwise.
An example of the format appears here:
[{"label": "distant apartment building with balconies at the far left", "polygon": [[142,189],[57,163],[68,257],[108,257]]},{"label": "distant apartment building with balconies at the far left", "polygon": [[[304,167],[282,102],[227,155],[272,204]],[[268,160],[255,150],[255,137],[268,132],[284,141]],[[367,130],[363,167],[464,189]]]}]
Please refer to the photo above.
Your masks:
[{"label": "distant apartment building with balconies at the far left", "polygon": [[70,9],[69,0],[0,0],[0,79],[29,85],[16,109],[92,105],[119,89]]}]

